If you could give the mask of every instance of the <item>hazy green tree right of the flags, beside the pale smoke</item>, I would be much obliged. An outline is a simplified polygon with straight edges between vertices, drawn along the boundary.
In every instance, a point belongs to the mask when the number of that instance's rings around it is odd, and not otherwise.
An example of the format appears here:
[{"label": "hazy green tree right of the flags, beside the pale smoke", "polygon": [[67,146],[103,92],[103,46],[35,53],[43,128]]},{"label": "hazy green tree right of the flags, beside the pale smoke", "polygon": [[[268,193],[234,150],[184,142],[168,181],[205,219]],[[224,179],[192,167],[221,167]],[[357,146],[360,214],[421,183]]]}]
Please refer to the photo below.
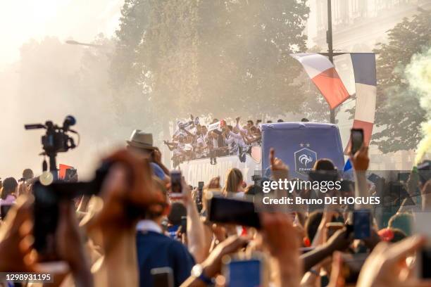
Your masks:
[{"label": "hazy green tree right of the flags, beside the pale smoke", "polygon": [[389,30],[389,41],[375,49],[379,53],[375,125],[382,129],[373,134],[373,144],[383,153],[416,148],[421,139],[426,111],[409,87],[405,70],[414,54],[431,46],[430,31],[431,13],[422,10]]}]

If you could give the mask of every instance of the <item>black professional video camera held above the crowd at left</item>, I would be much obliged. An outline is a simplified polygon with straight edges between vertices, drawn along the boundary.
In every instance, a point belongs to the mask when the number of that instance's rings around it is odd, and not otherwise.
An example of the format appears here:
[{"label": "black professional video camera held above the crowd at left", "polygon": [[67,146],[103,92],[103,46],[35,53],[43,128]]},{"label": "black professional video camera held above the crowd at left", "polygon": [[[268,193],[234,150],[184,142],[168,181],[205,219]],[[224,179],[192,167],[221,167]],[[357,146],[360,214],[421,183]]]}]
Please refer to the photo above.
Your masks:
[{"label": "black professional video camera held above the crowd at left", "polygon": [[[79,134],[70,129],[71,126],[75,125],[76,120],[72,115],[65,117],[63,127],[54,125],[51,120],[47,120],[45,125],[43,124],[31,124],[24,125],[25,129],[46,129],[46,134],[42,136],[42,148],[44,152],[41,155],[47,155],[49,157],[49,170],[53,175],[53,179],[57,179],[57,167],[56,167],[56,155],[57,153],[63,153],[71,148],[75,148],[75,140],[68,135],[68,132]],[[48,169],[46,160],[42,163],[42,171],[46,172]]]}]

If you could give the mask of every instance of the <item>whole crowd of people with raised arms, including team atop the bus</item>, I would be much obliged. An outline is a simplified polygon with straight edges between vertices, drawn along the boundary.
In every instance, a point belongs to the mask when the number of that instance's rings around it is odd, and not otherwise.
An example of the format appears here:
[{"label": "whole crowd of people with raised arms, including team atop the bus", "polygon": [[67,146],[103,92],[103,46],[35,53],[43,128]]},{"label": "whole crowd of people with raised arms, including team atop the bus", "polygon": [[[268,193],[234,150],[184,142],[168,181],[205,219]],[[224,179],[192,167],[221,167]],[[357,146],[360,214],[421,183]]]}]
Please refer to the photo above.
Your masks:
[{"label": "whole crowd of people with raised arms, including team atop the bus", "polygon": [[[237,118],[234,127],[223,125],[211,132],[194,119],[190,122],[187,127],[193,132],[184,125],[175,142],[167,143],[174,150],[194,143],[194,155],[215,158],[218,153],[211,148],[223,146],[218,143],[230,145],[237,139],[239,149],[260,140],[261,131],[252,121],[240,127]],[[208,148],[208,138],[217,145]],[[289,167],[276,152],[270,153],[271,177],[289,179]],[[180,150],[176,156],[188,159]],[[183,179],[183,196],[171,198],[170,171],[152,135],[139,130],[126,148],[104,162],[110,167],[100,191],[58,199],[51,215],[56,226],[49,230],[45,248],[34,244],[41,228],[35,212],[37,178],[25,170],[19,182],[4,179],[0,206],[8,210],[1,213],[0,286],[431,286],[429,279],[413,272],[427,240],[414,234],[413,224],[419,212],[431,210],[431,181],[413,172],[405,187],[417,204],[404,201],[380,221],[371,209],[370,235],[358,239],[343,206],[263,210],[258,213],[259,228],[211,222],[206,201],[210,193],[246,200],[257,196],[256,186],[244,186],[241,171],[232,169],[226,171],[225,183],[215,177],[201,190]],[[355,181],[343,192],[370,196],[368,148],[351,155],[351,162]],[[335,167],[330,160],[318,160],[314,170]],[[13,283],[6,277],[13,272],[48,273],[51,283]]]}]

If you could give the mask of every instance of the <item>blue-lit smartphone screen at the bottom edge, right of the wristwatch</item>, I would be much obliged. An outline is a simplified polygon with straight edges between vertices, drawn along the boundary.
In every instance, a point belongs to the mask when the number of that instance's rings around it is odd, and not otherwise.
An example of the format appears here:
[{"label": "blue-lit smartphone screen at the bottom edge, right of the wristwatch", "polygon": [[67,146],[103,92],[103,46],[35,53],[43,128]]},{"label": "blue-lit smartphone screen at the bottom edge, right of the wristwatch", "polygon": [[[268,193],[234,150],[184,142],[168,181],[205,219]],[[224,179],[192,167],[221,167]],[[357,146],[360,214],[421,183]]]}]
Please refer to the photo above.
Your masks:
[{"label": "blue-lit smartphone screen at the bottom edge, right of the wristwatch", "polygon": [[256,287],[261,286],[261,261],[237,260],[227,265],[227,286]]}]

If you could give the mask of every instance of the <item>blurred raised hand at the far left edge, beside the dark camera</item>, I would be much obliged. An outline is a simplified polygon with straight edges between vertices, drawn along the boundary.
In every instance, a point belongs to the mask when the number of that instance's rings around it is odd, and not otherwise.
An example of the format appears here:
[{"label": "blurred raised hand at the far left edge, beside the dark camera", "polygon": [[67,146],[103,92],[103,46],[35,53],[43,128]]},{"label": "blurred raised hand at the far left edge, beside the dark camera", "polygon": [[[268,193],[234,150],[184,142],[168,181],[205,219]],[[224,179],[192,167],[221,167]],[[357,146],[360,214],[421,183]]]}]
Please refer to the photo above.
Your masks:
[{"label": "blurred raised hand at the far left edge, beside the dark camera", "polygon": [[32,199],[20,196],[0,227],[0,272],[35,272]]}]

